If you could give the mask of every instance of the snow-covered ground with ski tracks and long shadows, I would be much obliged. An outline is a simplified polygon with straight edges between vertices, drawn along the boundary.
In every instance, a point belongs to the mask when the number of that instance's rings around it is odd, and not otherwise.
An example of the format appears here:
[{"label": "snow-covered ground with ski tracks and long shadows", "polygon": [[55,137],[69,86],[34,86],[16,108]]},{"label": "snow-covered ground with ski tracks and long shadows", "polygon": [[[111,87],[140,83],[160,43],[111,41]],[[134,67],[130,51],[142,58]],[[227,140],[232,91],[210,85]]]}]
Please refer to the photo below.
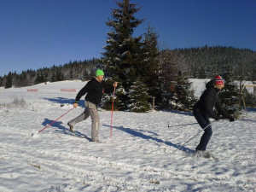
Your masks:
[{"label": "snow-covered ground with ski tracks and long shadows", "polygon": [[114,112],[112,138],[111,112],[100,111],[102,143],[91,143],[90,119],[68,130],[84,110],[76,108],[32,137],[73,108],[77,92],[60,89],[84,84],[0,91],[0,191],[255,191],[255,110],[212,123],[207,149],[218,160],[193,154],[201,133],[172,154],[201,130],[191,113],[175,111]]}]

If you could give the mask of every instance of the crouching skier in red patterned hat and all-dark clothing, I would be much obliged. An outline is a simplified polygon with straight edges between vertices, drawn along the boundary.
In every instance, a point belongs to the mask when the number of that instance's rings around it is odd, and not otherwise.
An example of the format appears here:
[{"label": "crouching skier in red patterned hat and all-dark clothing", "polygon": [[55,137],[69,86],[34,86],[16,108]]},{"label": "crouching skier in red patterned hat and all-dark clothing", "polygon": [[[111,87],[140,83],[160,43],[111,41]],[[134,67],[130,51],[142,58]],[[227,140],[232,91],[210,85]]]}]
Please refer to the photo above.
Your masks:
[{"label": "crouching skier in red patterned hat and all-dark clothing", "polygon": [[[224,88],[224,79],[217,75],[215,79],[207,83],[206,87],[207,90],[203,92],[200,100],[195,103],[193,108],[193,114],[198,124],[201,125],[202,129],[207,127],[204,130],[205,132],[201,137],[199,145],[195,148],[196,151],[206,151],[207,143],[212,137],[212,127],[209,118],[215,120],[230,119],[230,121],[235,121],[235,119],[221,107],[218,99],[218,92]],[[222,117],[219,116],[218,113],[215,113],[213,108],[216,108]]]}]

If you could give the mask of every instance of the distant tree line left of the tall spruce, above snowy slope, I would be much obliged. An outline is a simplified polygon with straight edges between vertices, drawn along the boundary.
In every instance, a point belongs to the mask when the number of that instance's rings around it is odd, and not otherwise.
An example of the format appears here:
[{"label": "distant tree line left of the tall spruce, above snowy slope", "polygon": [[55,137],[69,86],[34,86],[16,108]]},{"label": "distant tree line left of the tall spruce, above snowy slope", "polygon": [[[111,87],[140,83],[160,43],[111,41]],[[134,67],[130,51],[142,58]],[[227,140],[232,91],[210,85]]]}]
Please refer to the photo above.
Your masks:
[{"label": "distant tree line left of the tall spruce, above snowy slope", "polygon": [[20,74],[9,72],[8,75],[0,77],[0,86],[6,89],[10,87],[24,87],[45,82],[62,80],[88,80],[94,76],[96,67],[101,67],[99,59],[85,61],[70,61],[58,67],[44,67],[38,70],[26,70]]}]

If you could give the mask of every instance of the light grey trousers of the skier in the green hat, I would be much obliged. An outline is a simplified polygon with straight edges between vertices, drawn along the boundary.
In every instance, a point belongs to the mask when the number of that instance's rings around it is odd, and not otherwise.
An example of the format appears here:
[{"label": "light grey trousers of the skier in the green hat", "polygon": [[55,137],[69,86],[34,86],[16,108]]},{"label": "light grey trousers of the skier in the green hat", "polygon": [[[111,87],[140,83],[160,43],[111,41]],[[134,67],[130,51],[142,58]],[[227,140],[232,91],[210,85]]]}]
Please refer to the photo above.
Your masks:
[{"label": "light grey trousers of the skier in the green hat", "polygon": [[95,104],[84,101],[85,103],[85,109],[84,112],[81,113],[78,117],[75,119],[72,119],[68,122],[69,125],[75,125],[85,119],[87,119],[89,116],[91,118],[91,140],[93,142],[99,141],[98,138],[98,132],[99,132],[99,125],[100,125],[100,117],[97,112],[97,107]]}]

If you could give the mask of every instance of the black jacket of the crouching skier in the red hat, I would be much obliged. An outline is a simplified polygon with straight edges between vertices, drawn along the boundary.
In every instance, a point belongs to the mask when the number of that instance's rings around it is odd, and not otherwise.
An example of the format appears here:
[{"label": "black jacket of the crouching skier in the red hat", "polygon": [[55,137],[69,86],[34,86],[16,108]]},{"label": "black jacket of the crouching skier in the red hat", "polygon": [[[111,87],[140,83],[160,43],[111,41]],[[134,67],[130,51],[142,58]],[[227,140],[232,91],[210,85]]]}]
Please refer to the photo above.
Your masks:
[{"label": "black jacket of the crouching skier in the red hat", "polygon": [[195,103],[194,110],[199,110],[201,113],[207,115],[208,117],[215,119],[218,116],[218,114],[213,111],[213,108],[215,107],[218,113],[221,113],[224,118],[230,119],[230,114],[221,107],[220,101],[218,99],[219,90],[214,88],[212,80],[207,83],[206,87],[207,90],[203,92],[200,100]]}]

